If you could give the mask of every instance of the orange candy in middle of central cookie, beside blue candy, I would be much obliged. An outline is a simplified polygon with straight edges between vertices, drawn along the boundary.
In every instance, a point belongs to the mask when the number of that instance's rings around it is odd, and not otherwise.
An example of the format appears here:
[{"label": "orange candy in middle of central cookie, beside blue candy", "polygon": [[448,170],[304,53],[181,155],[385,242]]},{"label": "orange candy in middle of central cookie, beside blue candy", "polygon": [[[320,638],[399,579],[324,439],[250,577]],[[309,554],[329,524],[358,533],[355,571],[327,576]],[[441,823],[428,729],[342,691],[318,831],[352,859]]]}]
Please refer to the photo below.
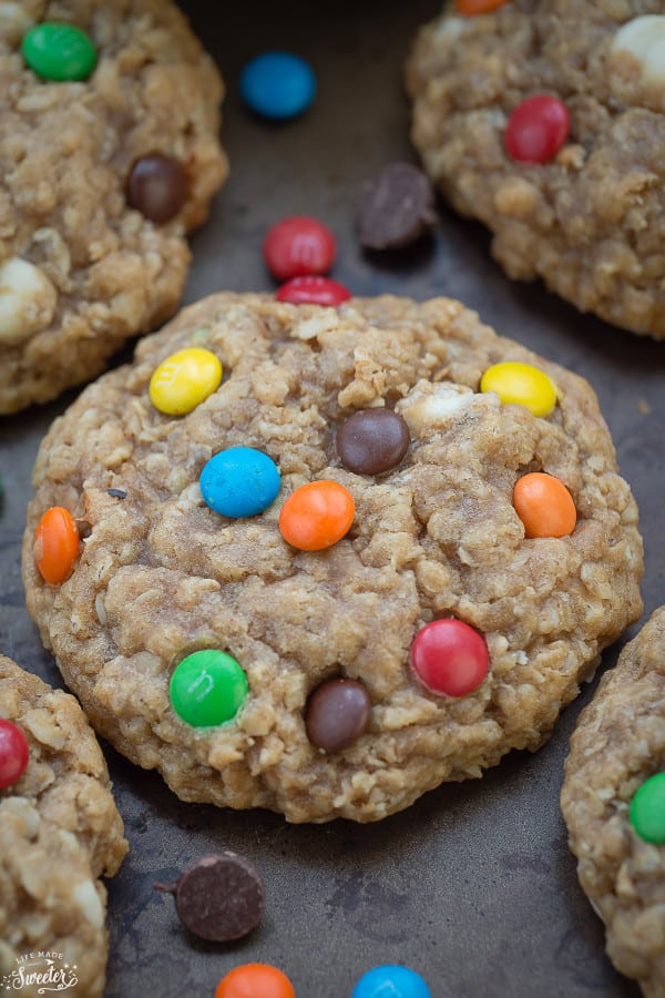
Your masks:
[{"label": "orange candy in middle of central cookie, beside blue candy", "polygon": [[339,482],[309,481],[291,492],[282,507],[279,530],[294,548],[320,551],[345,536],[355,511],[354,497]]}]

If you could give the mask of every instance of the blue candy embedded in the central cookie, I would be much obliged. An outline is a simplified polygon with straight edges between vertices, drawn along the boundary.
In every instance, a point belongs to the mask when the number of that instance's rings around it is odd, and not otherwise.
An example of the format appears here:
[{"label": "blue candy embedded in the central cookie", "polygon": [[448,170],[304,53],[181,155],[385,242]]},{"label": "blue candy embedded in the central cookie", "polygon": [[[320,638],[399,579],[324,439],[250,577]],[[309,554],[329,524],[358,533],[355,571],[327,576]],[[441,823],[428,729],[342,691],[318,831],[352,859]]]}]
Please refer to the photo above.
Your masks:
[{"label": "blue candy embedded in the central cookie", "polygon": [[275,501],[282,477],[275,461],[254,447],[229,447],[204,465],[198,479],[207,506],[224,517],[255,517]]}]

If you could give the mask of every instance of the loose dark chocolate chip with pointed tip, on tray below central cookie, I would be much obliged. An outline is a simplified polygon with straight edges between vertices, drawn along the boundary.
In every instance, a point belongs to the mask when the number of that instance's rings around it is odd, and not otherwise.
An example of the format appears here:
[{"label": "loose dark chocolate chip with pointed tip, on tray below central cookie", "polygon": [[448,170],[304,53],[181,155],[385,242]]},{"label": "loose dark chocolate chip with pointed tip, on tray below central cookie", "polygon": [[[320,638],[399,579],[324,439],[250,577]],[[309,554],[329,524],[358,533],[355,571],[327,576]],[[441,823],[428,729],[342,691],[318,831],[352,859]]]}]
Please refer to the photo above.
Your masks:
[{"label": "loose dark chocolate chip with pointed tip, on tray below central cookie", "polygon": [[154,888],[174,895],[185,928],[214,943],[246,936],[265,908],[259,875],[250,863],[231,852],[204,856],[173,884],[154,884]]}]

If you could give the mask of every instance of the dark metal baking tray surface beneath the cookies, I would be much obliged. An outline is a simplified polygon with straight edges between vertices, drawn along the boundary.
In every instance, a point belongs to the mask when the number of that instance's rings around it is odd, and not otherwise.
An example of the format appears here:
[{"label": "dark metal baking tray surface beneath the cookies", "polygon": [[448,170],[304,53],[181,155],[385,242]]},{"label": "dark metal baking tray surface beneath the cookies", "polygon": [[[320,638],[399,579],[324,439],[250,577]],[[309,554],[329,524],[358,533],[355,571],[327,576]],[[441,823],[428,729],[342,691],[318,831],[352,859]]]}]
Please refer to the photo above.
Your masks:
[{"label": "dark metal baking tray surface beneath the cookies", "polygon": [[[415,159],[402,62],[437,0],[184,6],[227,82],[223,141],[232,163],[193,240],[186,299],[272,289],[263,235],[279,217],[307,213],[335,232],[332,276],[351,291],[459,297],[500,333],[584,375],[640,503],[648,614],[664,601],[665,344],[580,315],[541,285],[510,283],[490,257],[488,234],[444,207],[433,238],[415,253],[370,257],[357,245],[362,182],[388,162]],[[238,96],[239,70],[268,49],[305,55],[318,75],[315,104],[288,124],[253,118]],[[39,441],[74,394],[0,420],[0,649],[53,683],[57,670],[25,613],[19,549]],[[536,755],[513,753],[482,781],[442,786],[380,825],[289,826],[268,813],[185,805],[155,773],[108,750],[132,851],[109,884],[106,995],[212,998],[231,967],[259,960],[283,968],[298,998],[348,998],[365,970],[389,961],[422,974],[433,998],[634,998],[638,989],[604,956],[559,812],[569,735],[592,692],[564,712]],[[190,937],[171,897],[152,889],[215,848],[249,858],[266,884],[264,921],[234,945]]]}]

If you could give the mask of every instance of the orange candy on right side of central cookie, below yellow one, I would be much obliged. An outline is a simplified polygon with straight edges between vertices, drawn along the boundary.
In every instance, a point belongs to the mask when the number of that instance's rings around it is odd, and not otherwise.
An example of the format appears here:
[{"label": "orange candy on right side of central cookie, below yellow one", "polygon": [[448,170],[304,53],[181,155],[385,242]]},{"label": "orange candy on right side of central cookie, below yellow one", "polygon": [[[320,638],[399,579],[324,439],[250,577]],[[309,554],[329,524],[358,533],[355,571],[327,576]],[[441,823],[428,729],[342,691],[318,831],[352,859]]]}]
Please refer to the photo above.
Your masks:
[{"label": "orange candy on right side of central cookie, below yellow one", "polygon": [[519,478],[513,506],[526,537],[566,537],[577,522],[573,497],[554,475],[532,471]]}]

